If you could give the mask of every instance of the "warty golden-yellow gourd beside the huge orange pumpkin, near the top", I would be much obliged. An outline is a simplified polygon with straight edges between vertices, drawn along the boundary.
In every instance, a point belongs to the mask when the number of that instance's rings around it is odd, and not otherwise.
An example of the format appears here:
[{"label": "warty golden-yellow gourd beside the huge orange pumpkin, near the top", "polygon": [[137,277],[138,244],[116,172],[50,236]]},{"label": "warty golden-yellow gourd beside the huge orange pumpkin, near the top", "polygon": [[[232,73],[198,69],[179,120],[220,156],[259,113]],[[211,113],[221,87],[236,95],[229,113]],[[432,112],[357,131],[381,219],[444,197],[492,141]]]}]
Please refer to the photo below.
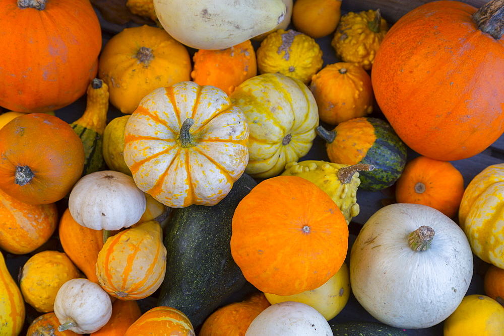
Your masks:
[{"label": "warty golden-yellow gourd beside the huge orange pumpkin, near the top", "polygon": [[349,12],[341,17],[331,45],[341,61],[354,62],[370,70],[388,30],[380,10]]}]

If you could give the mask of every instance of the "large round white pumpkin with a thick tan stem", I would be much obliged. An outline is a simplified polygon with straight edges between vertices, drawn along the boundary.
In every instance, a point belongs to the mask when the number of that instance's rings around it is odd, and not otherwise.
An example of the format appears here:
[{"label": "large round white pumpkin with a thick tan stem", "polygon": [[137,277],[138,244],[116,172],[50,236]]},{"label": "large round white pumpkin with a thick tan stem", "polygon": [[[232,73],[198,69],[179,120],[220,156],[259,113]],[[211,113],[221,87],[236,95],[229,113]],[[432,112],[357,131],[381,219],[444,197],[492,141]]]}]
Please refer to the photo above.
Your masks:
[{"label": "large round white pumpkin with a thick tan stem", "polygon": [[398,328],[428,328],[445,320],[462,301],[472,274],[462,229],[425,205],[381,208],[364,224],[350,253],[355,297],[376,319]]}]

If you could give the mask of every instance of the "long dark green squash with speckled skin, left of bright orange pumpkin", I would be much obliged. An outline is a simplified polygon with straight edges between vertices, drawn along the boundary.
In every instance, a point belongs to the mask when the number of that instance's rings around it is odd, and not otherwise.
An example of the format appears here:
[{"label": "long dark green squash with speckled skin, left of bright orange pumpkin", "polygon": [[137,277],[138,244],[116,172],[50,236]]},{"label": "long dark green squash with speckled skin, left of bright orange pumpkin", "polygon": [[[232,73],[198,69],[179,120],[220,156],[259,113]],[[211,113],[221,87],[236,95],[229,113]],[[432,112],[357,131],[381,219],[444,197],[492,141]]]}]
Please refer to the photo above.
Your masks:
[{"label": "long dark green squash with speckled skin, left of bright orange pumpkin", "polygon": [[256,181],[243,174],[229,194],[213,206],[173,209],[165,232],[166,276],[158,306],[179,309],[194,327],[245,283],[231,256],[234,209]]}]

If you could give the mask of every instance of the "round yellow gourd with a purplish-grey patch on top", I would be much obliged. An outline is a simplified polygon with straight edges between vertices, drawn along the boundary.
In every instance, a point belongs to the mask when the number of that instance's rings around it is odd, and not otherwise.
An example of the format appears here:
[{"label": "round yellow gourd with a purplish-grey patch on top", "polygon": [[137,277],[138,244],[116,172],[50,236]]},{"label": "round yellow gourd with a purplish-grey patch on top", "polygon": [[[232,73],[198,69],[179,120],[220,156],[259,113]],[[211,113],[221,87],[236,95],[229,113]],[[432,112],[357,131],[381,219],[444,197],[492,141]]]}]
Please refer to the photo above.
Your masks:
[{"label": "round yellow gourd with a purplish-grey patch on top", "polygon": [[257,49],[259,73],[281,73],[306,85],[322,69],[322,50],[308,35],[289,29],[269,34]]}]

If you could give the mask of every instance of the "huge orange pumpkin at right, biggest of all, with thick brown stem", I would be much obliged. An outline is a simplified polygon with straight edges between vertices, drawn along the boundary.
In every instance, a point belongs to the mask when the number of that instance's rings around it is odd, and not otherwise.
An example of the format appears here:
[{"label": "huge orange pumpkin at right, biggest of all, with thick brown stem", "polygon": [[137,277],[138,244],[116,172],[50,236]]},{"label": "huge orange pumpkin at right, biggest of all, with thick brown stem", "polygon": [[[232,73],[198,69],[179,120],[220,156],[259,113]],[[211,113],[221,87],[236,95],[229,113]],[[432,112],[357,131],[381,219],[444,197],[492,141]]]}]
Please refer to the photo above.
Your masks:
[{"label": "huge orange pumpkin at right, biggest of all, with thick brown stem", "polygon": [[376,53],[376,101],[424,156],[467,158],[504,131],[504,7],[495,0],[485,6],[488,16],[457,1],[424,4],[397,21]]}]

